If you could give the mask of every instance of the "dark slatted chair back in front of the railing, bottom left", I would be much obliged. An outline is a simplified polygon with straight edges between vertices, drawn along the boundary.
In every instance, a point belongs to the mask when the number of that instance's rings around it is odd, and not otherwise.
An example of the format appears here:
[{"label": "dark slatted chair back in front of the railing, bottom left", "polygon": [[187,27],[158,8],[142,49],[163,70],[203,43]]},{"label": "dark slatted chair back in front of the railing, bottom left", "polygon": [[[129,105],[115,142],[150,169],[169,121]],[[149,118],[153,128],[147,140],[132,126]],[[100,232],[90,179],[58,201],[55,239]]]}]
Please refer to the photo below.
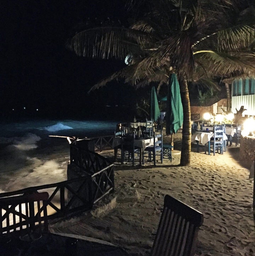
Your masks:
[{"label": "dark slatted chair back in front of the railing, bottom left", "polygon": [[48,198],[47,192],[0,198],[0,237],[48,232]]}]

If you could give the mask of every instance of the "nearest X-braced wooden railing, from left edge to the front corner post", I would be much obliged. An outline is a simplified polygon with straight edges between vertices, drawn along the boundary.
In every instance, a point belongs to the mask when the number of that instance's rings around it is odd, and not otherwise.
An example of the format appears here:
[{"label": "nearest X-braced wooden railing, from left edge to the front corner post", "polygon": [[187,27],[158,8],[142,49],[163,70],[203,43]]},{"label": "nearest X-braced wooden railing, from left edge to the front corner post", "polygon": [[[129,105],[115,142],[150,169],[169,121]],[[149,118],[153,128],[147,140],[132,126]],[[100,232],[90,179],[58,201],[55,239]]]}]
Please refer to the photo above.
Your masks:
[{"label": "nearest X-braced wooden railing, from left edge to the front corner post", "polygon": [[98,170],[93,175],[5,192],[0,194],[0,198],[43,191],[49,193],[47,200],[49,219],[66,217],[70,213],[90,210],[95,202],[114,191],[114,164]]}]

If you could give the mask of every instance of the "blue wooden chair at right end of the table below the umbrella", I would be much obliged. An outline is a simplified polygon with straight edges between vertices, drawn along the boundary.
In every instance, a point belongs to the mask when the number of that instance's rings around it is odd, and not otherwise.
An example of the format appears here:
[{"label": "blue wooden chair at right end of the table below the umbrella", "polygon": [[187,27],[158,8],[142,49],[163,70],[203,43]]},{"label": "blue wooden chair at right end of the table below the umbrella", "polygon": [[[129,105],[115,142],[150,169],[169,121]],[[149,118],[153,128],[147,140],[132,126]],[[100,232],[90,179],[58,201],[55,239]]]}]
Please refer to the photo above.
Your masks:
[{"label": "blue wooden chair at right end of the table below the umbrella", "polygon": [[[157,138],[157,140],[156,140]],[[149,162],[151,162],[151,156],[153,154],[153,163],[154,166],[156,166],[156,156],[160,155],[160,161],[163,163],[163,135],[162,130],[160,130],[160,134],[155,134],[155,131],[153,132],[153,146],[149,146],[145,148],[143,151],[143,164],[144,164],[144,157],[148,154]]]}]

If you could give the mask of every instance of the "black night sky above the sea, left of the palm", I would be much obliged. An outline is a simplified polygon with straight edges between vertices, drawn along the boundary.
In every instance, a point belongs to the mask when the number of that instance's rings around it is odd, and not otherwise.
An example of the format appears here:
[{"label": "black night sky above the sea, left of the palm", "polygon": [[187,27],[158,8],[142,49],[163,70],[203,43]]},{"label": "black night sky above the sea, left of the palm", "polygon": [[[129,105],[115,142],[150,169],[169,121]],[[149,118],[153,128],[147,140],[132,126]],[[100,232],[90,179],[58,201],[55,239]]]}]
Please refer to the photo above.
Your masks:
[{"label": "black night sky above the sea, left of the palm", "polygon": [[65,47],[83,29],[126,26],[129,14],[121,1],[9,0],[1,2],[0,16],[1,117],[100,117],[109,111],[106,105],[132,103],[137,92],[123,83],[87,94],[124,60],[85,59]]}]

